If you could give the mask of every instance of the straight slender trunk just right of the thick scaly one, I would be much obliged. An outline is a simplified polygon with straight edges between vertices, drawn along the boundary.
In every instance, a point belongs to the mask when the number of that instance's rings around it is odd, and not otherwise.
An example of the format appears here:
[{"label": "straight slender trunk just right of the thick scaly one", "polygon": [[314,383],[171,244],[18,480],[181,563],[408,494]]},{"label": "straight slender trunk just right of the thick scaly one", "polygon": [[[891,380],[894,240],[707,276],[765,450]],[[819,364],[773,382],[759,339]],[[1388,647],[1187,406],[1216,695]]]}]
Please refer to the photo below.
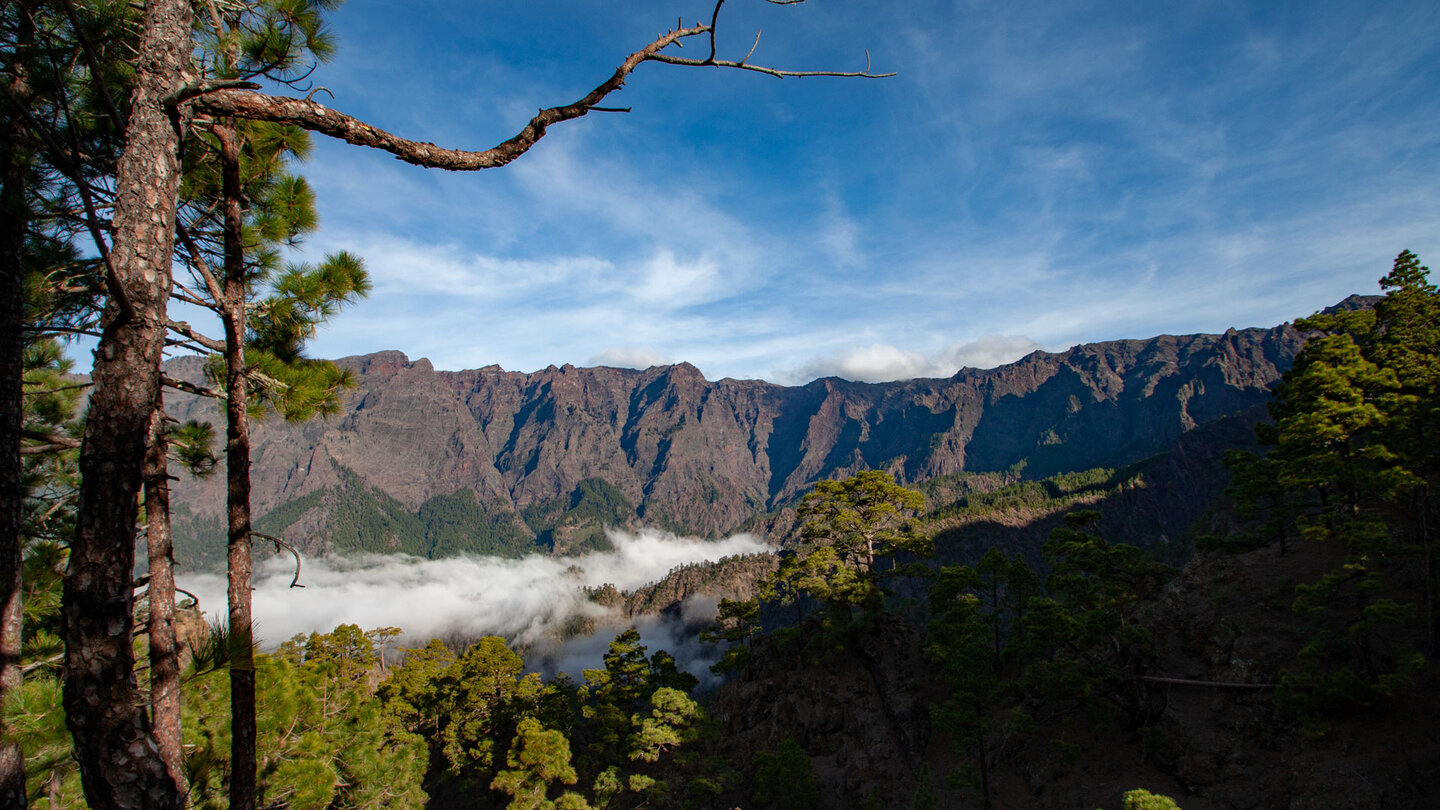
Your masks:
[{"label": "straight slender trunk just right of the thick scaly one", "polygon": [[255,809],[255,660],[251,617],[251,434],[245,380],[245,233],[240,147],[233,124],[216,127],[225,186],[225,476],[229,516],[230,810]]}]

